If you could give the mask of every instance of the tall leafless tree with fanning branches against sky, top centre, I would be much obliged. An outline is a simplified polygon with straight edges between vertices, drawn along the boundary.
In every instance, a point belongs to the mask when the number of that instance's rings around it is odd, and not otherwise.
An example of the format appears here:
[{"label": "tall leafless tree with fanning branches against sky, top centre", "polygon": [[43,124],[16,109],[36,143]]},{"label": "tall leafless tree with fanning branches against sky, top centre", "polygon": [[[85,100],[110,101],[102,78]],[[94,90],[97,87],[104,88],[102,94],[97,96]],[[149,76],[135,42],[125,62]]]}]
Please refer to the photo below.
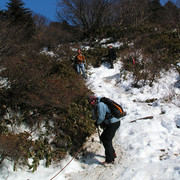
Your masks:
[{"label": "tall leafless tree with fanning branches against sky, top centre", "polygon": [[59,19],[80,27],[81,32],[92,39],[98,29],[107,24],[110,8],[114,1],[105,0],[63,0],[58,1],[57,15]]}]

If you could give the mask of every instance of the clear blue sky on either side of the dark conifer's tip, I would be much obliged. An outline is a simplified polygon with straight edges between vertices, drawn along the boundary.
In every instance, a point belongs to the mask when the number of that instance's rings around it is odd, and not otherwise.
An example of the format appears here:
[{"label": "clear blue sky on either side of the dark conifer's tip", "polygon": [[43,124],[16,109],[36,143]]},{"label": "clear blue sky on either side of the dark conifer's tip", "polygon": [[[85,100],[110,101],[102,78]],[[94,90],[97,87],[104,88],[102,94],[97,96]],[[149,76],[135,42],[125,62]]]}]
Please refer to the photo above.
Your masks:
[{"label": "clear blue sky on either side of the dark conifer's tip", "polygon": [[[0,0],[0,10],[5,9],[9,0]],[[56,0],[23,0],[26,8],[41,14],[52,21],[56,21]]]}]

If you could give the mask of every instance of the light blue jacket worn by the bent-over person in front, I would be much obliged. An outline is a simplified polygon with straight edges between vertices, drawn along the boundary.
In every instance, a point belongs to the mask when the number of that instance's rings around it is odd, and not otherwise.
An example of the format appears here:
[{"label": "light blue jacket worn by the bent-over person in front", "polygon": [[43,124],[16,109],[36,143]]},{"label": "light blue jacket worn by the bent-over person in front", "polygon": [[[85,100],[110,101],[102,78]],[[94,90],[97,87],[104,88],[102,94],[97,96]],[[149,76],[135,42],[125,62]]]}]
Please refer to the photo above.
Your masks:
[{"label": "light blue jacket worn by the bent-over person in front", "polygon": [[112,117],[112,118],[106,118],[106,113],[111,113],[111,110],[109,109],[109,107],[103,103],[100,102],[101,98],[98,98],[98,102],[96,105],[97,108],[97,117],[96,117],[96,113],[95,111],[93,112],[93,117],[94,119],[97,120],[97,124],[101,124],[102,122],[104,122],[105,124],[109,124],[109,123],[115,123],[120,121],[120,119]]}]

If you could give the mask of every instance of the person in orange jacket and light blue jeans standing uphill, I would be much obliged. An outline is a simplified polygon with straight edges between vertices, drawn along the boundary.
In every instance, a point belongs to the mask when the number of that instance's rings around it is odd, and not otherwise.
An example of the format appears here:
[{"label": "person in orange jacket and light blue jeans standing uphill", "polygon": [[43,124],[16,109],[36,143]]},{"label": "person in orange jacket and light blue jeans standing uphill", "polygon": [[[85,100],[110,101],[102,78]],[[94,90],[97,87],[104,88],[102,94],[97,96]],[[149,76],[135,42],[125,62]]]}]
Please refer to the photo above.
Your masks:
[{"label": "person in orange jacket and light blue jeans standing uphill", "polygon": [[77,73],[80,74],[82,72],[83,78],[86,78],[85,67],[84,67],[85,62],[86,62],[85,56],[81,53],[81,50],[78,49],[78,54],[75,57],[75,64],[76,64]]}]

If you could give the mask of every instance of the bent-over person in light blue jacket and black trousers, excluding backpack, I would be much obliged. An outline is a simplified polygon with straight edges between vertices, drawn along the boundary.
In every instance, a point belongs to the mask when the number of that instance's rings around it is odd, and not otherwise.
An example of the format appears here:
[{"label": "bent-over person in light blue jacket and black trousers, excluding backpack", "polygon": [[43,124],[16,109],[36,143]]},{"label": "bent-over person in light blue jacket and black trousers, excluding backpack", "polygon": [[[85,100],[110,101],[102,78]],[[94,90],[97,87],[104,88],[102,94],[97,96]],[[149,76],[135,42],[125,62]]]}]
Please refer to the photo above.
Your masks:
[{"label": "bent-over person in light blue jacket and black trousers, excluding backpack", "polygon": [[117,129],[120,127],[120,119],[111,116],[109,107],[100,102],[100,97],[95,95],[88,95],[88,101],[93,107],[93,118],[96,120],[95,125],[103,125],[103,132],[100,140],[105,149],[105,162],[103,164],[114,163],[116,153],[112,145],[112,140]]}]

